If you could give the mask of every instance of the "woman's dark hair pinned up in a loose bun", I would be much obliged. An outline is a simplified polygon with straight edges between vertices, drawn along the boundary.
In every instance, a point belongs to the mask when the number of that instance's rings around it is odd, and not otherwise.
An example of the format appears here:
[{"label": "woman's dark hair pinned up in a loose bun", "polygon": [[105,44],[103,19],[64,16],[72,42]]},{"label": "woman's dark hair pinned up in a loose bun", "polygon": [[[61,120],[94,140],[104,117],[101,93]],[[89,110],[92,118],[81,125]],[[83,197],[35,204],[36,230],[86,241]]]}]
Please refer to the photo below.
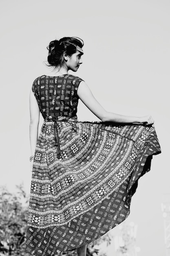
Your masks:
[{"label": "woman's dark hair pinned up in a loose bun", "polygon": [[49,50],[49,54],[47,58],[49,63],[48,66],[61,67],[64,61],[63,53],[66,52],[68,56],[71,56],[77,51],[75,45],[82,48],[84,45],[84,42],[79,37],[63,37],[60,40],[51,41],[49,43],[49,46],[47,47],[47,49]]}]

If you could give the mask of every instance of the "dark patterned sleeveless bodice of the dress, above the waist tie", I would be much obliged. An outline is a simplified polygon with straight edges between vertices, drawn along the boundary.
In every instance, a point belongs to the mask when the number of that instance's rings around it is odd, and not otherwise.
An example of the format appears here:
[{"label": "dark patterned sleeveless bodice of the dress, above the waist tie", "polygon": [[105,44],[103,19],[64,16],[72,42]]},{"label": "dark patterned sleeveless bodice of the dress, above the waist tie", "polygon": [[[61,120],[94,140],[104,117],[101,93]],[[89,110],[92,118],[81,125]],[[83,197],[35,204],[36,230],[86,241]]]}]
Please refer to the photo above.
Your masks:
[{"label": "dark patterned sleeveless bodice of the dress, above the waist tie", "polygon": [[43,118],[52,121],[77,116],[77,88],[81,81],[78,76],[70,74],[36,78],[32,90]]}]

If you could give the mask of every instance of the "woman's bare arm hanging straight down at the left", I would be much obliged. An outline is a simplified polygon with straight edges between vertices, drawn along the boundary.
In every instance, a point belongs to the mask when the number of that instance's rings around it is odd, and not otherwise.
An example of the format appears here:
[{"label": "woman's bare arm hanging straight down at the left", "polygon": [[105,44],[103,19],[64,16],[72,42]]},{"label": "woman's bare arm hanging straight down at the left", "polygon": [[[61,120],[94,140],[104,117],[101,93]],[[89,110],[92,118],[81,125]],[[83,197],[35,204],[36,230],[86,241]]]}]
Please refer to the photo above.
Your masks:
[{"label": "woman's bare arm hanging straight down at the left", "polygon": [[40,109],[33,94],[32,88],[29,95],[29,109],[30,109],[30,124],[29,124],[29,138],[31,146],[31,155],[35,153],[35,147],[38,139],[38,125],[40,120]]}]

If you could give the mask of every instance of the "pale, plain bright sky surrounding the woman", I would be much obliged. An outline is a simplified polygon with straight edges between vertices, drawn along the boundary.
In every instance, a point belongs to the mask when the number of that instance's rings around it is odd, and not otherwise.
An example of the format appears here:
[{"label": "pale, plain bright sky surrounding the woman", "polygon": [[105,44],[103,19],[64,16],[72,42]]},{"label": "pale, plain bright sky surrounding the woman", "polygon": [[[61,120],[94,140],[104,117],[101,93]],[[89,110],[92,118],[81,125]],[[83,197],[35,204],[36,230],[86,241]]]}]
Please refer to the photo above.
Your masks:
[{"label": "pale, plain bright sky surrounding the woman", "polygon": [[[139,180],[127,221],[138,225],[137,256],[165,255],[161,202],[170,193],[170,1],[1,0],[0,22],[0,184],[13,191],[23,182],[29,193],[31,85],[49,72],[43,64],[49,42],[78,36],[84,56],[74,74],[102,106],[155,119],[162,154],[153,157],[151,171]],[[81,102],[78,118],[98,120]]]}]

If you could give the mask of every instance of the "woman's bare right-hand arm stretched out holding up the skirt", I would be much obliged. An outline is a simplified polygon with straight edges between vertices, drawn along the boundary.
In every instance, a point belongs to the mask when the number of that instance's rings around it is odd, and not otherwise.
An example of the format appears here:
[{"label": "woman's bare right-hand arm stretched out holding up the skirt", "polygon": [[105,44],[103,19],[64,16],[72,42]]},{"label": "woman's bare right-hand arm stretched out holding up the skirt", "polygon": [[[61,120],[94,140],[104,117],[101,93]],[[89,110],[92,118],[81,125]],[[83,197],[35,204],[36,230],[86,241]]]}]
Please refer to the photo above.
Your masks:
[{"label": "woman's bare right-hand arm stretched out holding up the skirt", "polygon": [[87,106],[94,115],[96,115],[101,121],[115,122],[115,123],[146,123],[153,124],[154,120],[150,115],[144,117],[132,117],[115,114],[113,112],[106,111],[99,102],[93,96],[88,85],[82,81],[77,89],[77,95],[81,101]]}]

